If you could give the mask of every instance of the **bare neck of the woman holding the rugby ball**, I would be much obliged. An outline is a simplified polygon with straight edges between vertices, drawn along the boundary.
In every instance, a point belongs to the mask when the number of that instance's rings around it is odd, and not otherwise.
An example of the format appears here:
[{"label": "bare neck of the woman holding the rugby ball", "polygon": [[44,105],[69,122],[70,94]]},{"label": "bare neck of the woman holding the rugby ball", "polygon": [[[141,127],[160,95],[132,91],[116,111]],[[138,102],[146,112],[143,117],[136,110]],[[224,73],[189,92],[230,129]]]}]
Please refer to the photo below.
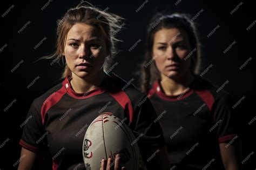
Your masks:
[{"label": "bare neck of the woman holding the rugby ball", "polygon": [[72,73],[72,79],[70,81],[70,84],[72,86],[72,89],[75,92],[86,93],[100,87],[104,79],[105,79],[105,73],[103,69],[100,70],[95,75],[93,75],[92,77],[86,78],[86,79],[80,78],[76,76],[76,74]]}]

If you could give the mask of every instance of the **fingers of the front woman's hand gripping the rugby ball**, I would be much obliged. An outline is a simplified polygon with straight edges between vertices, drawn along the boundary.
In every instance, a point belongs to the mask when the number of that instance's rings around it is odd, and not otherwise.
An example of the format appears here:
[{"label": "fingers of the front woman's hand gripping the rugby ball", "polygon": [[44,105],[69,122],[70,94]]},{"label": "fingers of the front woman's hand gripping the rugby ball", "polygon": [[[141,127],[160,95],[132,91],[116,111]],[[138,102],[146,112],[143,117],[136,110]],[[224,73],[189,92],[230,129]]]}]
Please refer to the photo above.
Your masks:
[{"label": "fingers of the front woman's hand gripping the rugby ball", "polygon": [[100,164],[100,170],[125,170],[125,167],[120,167],[119,154],[116,155],[116,159],[114,161],[111,158],[108,158],[107,160],[102,159],[102,162]]}]

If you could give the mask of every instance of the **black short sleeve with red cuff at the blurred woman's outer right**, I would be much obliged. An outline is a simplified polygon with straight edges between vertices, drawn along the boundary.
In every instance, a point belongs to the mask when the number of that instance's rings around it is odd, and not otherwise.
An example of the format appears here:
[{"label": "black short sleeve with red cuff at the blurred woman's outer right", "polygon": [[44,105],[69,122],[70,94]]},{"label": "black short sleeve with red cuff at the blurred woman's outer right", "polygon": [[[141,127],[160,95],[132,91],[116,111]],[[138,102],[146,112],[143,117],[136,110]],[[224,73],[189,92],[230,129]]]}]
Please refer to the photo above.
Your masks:
[{"label": "black short sleeve with red cuff at the blurred woman's outer right", "polygon": [[217,126],[216,133],[219,143],[227,142],[237,136],[230,102],[230,96],[225,95],[219,97],[214,104],[214,126]]}]

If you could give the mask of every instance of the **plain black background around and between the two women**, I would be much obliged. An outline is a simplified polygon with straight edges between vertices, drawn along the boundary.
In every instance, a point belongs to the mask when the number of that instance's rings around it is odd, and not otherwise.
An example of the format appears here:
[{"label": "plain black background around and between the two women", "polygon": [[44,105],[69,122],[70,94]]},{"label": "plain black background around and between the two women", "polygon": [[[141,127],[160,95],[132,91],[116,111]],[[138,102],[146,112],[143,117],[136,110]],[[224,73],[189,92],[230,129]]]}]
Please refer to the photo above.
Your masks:
[{"label": "plain black background around and between the two women", "polygon": [[[55,50],[57,19],[71,7],[76,6],[79,1],[53,0],[42,11],[41,8],[48,1],[4,1],[1,2],[1,42],[0,48],[8,44],[0,52],[1,64],[4,67],[4,76],[0,80],[1,94],[0,108],[0,145],[9,139],[0,148],[0,169],[12,169],[12,165],[19,159],[21,146],[18,142],[21,138],[23,128],[20,125],[24,122],[32,100],[41,96],[46,90],[59,83],[63,67],[50,65],[51,60],[40,60],[39,57],[49,55]],[[246,28],[255,21],[255,5],[253,1],[242,1],[237,11],[230,12],[241,1],[185,1],[182,0],[177,6],[177,1],[151,1],[136,12],[136,9],[144,1],[128,2],[121,4],[121,1],[89,1],[98,8],[104,10],[109,7],[110,12],[120,15],[126,19],[125,29],[118,32],[118,38],[123,42],[118,44],[119,54],[114,62],[119,64],[114,67],[113,72],[126,81],[134,78],[134,85],[139,87],[139,76],[136,73],[139,64],[143,61],[143,52],[146,36],[146,25],[156,11],[167,10],[172,12],[184,12],[196,15],[201,9],[202,13],[195,19],[198,23],[198,32],[201,44],[203,45],[203,60],[201,72],[210,64],[213,67],[204,75],[215,85],[221,86],[226,80],[229,83],[224,90],[229,92],[237,103],[243,96],[244,100],[233,109],[237,117],[237,127],[240,130],[239,137],[242,139],[242,160],[251,152],[256,152],[255,124],[248,122],[255,117],[255,28]],[[15,7],[2,17],[2,14],[14,4]],[[22,26],[30,21],[26,28],[18,33]],[[207,35],[217,25],[214,34],[208,38]],[[44,38],[47,39],[36,50],[34,47]],[[142,42],[129,52],[130,47],[141,39]],[[223,51],[232,43],[233,47]],[[248,58],[252,60],[240,70],[239,67]],[[24,62],[12,73],[11,70],[23,60]],[[37,76],[40,78],[27,89],[31,81]],[[17,100],[7,111],[4,109],[13,100]],[[255,153],[244,164],[244,169],[255,169]],[[15,167],[17,169],[17,166]]]}]

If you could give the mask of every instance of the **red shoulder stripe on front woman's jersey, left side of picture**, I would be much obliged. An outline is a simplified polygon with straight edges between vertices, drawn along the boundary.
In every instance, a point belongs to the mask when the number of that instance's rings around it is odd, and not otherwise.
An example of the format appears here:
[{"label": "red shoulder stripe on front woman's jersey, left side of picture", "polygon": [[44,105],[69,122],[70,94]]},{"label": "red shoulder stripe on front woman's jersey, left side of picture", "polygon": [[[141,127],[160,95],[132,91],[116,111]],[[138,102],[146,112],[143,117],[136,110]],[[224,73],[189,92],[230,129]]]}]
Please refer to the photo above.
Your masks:
[{"label": "red shoulder stripe on front woman's jersey, left side of picture", "polygon": [[65,87],[60,88],[57,92],[52,93],[43,103],[41,108],[41,117],[44,124],[44,117],[46,112],[64,96],[66,93]]}]

